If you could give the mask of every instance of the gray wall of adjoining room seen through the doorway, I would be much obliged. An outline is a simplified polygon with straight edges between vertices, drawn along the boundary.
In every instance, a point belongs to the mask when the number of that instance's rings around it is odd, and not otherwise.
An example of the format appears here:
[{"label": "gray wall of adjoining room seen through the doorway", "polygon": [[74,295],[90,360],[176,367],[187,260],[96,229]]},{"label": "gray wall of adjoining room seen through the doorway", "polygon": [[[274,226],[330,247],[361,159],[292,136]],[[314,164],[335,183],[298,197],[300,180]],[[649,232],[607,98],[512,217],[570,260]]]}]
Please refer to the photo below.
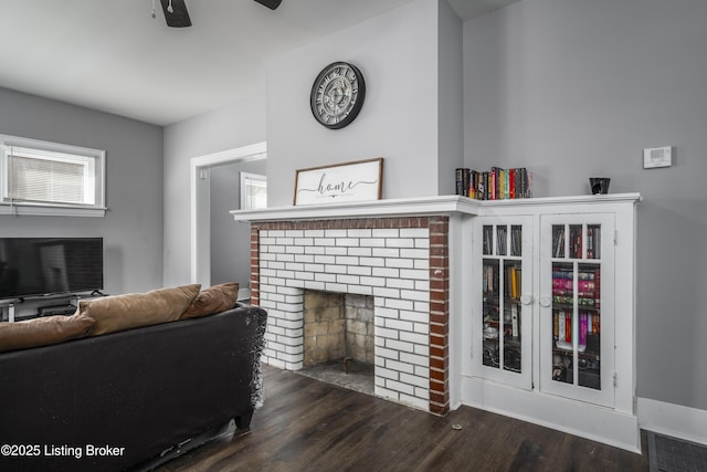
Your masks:
[{"label": "gray wall of adjoining room seen through the doorway", "polygon": [[211,177],[211,284],[251,281],[251,225],[233,221],[240,208],[241,172],[265,174],[265,160],[213,167]]}]

